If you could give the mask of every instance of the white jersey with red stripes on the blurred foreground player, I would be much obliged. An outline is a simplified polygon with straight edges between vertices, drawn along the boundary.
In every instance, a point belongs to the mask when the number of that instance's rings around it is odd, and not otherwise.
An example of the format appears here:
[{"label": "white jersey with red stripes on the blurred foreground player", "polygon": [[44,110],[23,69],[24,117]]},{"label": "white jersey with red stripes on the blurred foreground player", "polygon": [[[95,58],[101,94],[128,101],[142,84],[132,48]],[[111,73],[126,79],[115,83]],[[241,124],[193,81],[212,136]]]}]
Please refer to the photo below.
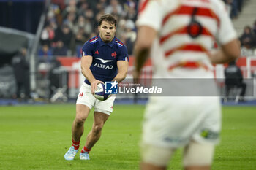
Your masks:
[{"label": "white jersey with red stripes on the blurred foreground player", "polygon": [[[158,33],[151,48],[154,77],[170,77],[174,69],[187,72],[189,67],[201,66],[208,72],[212,67],[208,53],[214,43],[225,45],[236,39],[225,4],[220,0],[144,0],[136,25],[149,26]],[[201,73],[191,74],[201,77]],[[183,77],[177,77],[180,76]]]}]

